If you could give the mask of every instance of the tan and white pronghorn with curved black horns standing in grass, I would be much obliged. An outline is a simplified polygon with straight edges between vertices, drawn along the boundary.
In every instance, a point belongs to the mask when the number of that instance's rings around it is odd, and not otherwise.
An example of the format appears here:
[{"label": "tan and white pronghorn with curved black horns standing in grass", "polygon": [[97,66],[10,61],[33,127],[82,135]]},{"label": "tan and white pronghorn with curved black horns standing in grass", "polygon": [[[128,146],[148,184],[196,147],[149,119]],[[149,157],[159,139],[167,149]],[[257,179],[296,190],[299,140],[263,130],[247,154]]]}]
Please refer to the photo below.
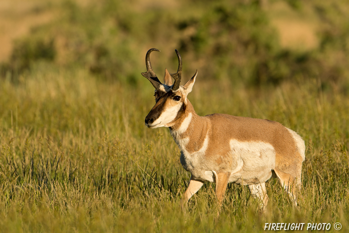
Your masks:
[{"label": "tan and white pronghorn with curved black horns standing in grass", "polygon": [[[183,86],[182,61],[179,52],[178,70],[165,69],[162,84],[152,69],[150,53],[146,55],[144,77],[155,87],[156,104],[146,117],[149,128],[169,127],[181,155],[180,163],[191,173],[186,203],[203,185],[216,183],[216,196],[221,205],[227,184],[248,185],[251,196],[260,200],[262,210],[268,203],[265,182],[276,175],[285,191],[297,205],[293,187],[302,186],[301,170],[305,159],[303,139],[278,122],[227,114],[198,116],[187,99],[194,85],[194,76]],[[172,83],[174,78],[174,83]]]}]

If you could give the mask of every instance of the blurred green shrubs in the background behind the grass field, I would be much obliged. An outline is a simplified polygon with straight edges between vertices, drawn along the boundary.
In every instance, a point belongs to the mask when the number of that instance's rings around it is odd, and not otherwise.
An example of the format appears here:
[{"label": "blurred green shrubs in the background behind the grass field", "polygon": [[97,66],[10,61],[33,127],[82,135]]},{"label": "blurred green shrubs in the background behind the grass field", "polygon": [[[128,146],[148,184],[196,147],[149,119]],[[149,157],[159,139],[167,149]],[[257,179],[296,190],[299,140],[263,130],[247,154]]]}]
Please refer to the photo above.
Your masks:
[{"label": "blurred green shrubs in the background behind the grass field", "polygon": [[[107,80],[137,83],[140,57],[151,47],[206,79],[231,79],[251,86],[320,79],[323,86],[349,88],[349,22],[346,1],[286,1],[299,14],[316,14],[319,46],[297,50],[280,46],[266,4],[277,0],[151,2],[102,0],[84,6],[56,3],[60,16],[19,39],[1,75],[17,79],[38,59],[58,66],[81,66]],[[169,52],[168,52],[169,51]],[[172,53],[170,53],[170,51]],[[167,62],[169,63],[169,62]],[[157,66],[164,67],[165,62]],[[162,71],[163,72],[163,71]],[[161,76],[158,74],[158,76]]]}]

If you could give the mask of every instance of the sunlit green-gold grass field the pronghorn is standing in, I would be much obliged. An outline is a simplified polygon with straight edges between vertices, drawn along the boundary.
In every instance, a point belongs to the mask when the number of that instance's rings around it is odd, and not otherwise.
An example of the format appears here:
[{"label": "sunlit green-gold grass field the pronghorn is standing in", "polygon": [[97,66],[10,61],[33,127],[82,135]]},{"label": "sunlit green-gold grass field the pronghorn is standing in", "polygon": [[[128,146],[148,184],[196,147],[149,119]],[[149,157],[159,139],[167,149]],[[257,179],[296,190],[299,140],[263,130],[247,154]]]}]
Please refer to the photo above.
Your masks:
[{"label": "sunlit green-gold grass field the pronghorn is standing in", "polygon": [[144,125],[153,87],[139,78],[131,86],[82,69],[38,69],[17,84],[0,80],[1,231],[262,232],[266,222],[348,229],[346,96],[316,80],[248,89],[198,77],[189,95],[198,114],[279,121],[307,146],[297,208],[277,180],[267,183],[264,216],[247,187],[231,184],[217,220],[214,184],[180,209],[189,174],[168,129]]}]

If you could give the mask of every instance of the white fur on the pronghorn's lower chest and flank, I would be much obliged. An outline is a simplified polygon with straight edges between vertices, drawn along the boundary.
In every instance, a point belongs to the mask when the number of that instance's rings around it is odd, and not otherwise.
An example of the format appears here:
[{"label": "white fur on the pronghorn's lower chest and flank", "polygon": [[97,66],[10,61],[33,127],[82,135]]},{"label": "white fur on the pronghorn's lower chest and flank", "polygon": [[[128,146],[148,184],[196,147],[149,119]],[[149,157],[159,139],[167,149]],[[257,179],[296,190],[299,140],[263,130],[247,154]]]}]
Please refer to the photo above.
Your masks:
[{"label": "white fur on the pronghorn's lower chest and flank", "polygon": [[[209,161],[206,161],[207,146],[206,138],[199,151],[189,154],[182,150],[180,162],[196,179],[215,182],[214,173],[217,173],[217,165],[210,166]],[[271,177],[271,170],[275,168],[275,150],[272,145],[264,142],[231,140],[230,149],[228,156],[231,157],[234,167],[226,171],[231,173],[228,182],[250,185],[267,181]]]}]

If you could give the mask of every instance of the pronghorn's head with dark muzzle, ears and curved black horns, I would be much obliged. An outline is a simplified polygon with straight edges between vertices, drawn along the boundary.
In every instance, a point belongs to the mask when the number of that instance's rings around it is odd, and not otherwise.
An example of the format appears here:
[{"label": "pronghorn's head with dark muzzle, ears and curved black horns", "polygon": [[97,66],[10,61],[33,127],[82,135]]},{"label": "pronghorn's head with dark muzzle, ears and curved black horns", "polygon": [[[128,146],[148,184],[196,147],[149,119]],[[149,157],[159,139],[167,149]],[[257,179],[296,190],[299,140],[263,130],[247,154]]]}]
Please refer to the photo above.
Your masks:
[{"label": "pronghorn's head with dark muzzle, ears and curved black horns", "polygon": [[[176,73],[169,73],[165,69],[164,84],[160,82],[157,75],[153,71],[150,62],[150,53],[159,51],[159,49],[149,49],[146,55],[147,72],[142,73],[155,87],[155,105],[146,117],[146,125],[149,128],[172,127],[175,121],[184,113],[187,103],[187,95],[191,92],[194,85],[197,70],[194,76],[183,86],[180,86],[182,75],[182,59],[177,50],[178,69]],[[172,83],[172,78],[174,83]]]}]

